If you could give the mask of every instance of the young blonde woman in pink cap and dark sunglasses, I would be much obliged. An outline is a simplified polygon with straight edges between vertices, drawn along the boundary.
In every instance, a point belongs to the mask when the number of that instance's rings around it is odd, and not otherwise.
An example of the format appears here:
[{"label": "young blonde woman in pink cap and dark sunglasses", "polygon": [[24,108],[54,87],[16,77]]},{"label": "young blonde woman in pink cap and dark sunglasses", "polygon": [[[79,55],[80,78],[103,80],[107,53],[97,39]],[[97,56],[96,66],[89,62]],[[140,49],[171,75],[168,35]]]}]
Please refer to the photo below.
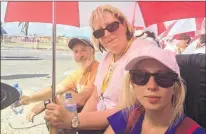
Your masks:
[{"label": "young blonde woman in pink cap and dark sunglasses", "polygon": [[186,89],[175,54],[142,47],[127,65],[121,111],[108,117],[106,134],[205,134],[183,113]]}]

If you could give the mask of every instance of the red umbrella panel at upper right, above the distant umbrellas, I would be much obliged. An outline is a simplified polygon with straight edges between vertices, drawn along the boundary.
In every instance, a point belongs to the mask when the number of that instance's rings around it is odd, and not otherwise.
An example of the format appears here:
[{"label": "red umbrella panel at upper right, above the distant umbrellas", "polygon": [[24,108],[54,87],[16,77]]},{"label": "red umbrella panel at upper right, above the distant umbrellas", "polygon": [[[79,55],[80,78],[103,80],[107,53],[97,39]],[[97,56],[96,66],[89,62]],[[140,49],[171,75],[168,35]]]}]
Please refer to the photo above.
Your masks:
[{"label": "red umbrella panel at upper right, above the distant umbrellas", "polygon": [[[145,26],[170,20],[205,17],[205,2],[137,2]],[[138,6],[136,6],[138,8]],[[138,20],[138,16],[136,16]]]}]

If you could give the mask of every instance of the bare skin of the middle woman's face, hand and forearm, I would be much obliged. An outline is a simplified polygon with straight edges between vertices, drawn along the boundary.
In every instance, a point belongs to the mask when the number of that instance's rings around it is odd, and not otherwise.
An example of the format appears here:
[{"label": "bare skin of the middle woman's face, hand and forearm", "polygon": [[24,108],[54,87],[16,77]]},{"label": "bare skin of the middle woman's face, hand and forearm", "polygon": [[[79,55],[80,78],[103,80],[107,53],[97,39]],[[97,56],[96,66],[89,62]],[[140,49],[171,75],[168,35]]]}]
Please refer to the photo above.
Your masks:
[{"label": "bare skin of the middle woman's face, hand and forearm", "polygon": [[[116,17],[108,12],[104,12],[103,18],[95,20],[94,30],[105,28],[108,24],[118,21]],[[124,54],[127,48],[128,41],[126,39],[126,25],[120,24],[120,27],[115,32],[109,33],[105,31],[105,36],[100,38],[99,41],[103,46],[115,56],[115,61],[119,60]],[[102,130],[108,126],[107,117],[117,111],[116,108],[96,111],[98,103],[97,91],[87,101],[84,109],[78,114],[80,125],[79,129],[83,130]],[[48,121],[49,125],[57,128],[71,128],[71,120],[73,116],[63,106],[54,103],[47,105],[45,111],[45,120]]]}]

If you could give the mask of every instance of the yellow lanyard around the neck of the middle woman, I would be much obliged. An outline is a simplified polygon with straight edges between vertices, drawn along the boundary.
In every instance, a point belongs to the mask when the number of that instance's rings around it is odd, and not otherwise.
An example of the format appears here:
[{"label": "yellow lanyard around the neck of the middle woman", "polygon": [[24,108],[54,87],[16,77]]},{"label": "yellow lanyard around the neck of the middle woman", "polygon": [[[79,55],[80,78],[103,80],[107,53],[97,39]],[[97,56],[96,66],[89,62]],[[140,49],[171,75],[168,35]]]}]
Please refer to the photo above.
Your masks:
[{"label": "yellow lanyard around the neck of the middle woman", "polygon": [[[127,52],[127,50],[129,49],[130,45],[132,44],[133,40],[134,40],[134,38],[132,38],[129,41],[129,43],[127,45],[127,48],[125,49],[123,55]],[[109,67],[108,67],[108,69],[107,69],[107,71],[106,71],[106,73],[104,75],[103,81],[102,81],[101,96],[103,96],[103,94],[104,94],[104,92],[105,92],[106,88],[108,87],[108,84],[109,84],[109,82],[111,80],[112,74],[113,74],[114,69],[115,69],[115,64],[114,63],[115,63],[115,61],[114,61],[114,54],[113,54],[112,59],[111,59],[110,64],[109,64]]]}]

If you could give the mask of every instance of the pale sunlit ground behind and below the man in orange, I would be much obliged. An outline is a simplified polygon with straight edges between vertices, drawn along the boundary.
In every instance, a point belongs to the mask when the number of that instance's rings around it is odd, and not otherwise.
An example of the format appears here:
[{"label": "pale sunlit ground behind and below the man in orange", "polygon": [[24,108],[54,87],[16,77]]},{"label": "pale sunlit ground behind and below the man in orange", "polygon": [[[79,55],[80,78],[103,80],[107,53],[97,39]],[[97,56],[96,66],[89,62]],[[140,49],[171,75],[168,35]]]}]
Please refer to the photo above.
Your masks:
[{"label": "pale sunlit ground behind and below the man in orange", "polygon": [[[97,53],[100,60],[102,54]],[[72,53],[56,52],[56,83],[64,79],[76,68]],[[1,82],[13,85],[19,83],[23,94],[30,95],[51,85],[52,51],[28,48],[1,48]],[[28,110],[34,104],[24,106],[22,115],[15,115],[10,107],[1,111],[1,134],[47,134],[43,119],[44,112],[34,118],[33,123],[26,120]]]}]

